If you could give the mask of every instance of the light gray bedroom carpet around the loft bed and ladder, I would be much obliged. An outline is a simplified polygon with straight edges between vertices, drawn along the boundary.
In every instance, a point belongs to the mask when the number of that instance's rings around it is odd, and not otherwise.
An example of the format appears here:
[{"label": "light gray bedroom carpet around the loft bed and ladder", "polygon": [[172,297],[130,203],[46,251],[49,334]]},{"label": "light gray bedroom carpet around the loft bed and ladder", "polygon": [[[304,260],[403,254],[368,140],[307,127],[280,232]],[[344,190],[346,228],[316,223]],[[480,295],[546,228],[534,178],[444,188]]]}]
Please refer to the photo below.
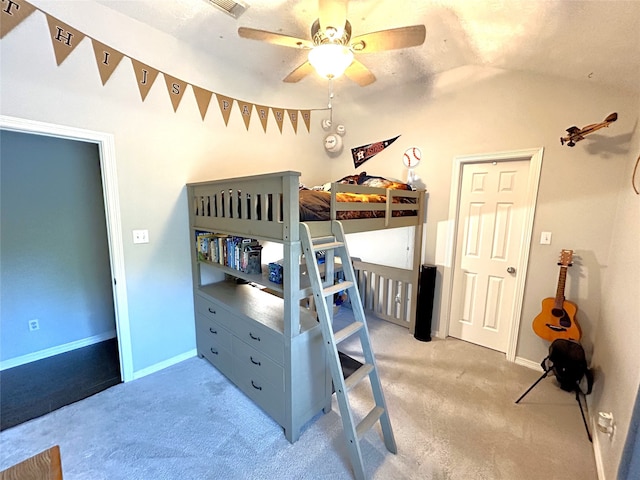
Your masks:
[{"label": "light gray bedroom carpet around the loft bed and ladder", "polygon": [[[455,339],[419,342],[377,319],[369,328],[398,445],[393,455],[379,428],[369,431],[370,478],[597,478],[575,397],[553,377],[516,405],[541,372]],[[356,389],[355,409],[369,407],[369,391]],[[55,444],[65,480],[352,478],[335,397],[291,445],[200,358],[1,432],[0,470]]]}]

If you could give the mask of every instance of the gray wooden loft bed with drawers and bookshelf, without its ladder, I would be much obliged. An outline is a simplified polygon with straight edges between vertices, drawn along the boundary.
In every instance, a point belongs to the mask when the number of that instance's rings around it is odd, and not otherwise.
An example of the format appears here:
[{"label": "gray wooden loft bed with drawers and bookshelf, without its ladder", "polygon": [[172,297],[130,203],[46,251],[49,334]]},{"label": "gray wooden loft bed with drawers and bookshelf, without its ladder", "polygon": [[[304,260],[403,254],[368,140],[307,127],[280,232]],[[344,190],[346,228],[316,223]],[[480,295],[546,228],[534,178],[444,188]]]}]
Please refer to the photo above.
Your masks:
[{"label": "gray wooden loft bed with drawers and bookshelf, without its ladder", "polygon": [[[330,411],[332,395],[319,323],[302,306],[312,291],[301,262],[299,181],[300,173],[285,171],[187,185],[198,354],[276,420],[292,443],[319,411]],[[342,202],[342,193],[377,195],[383,203]],[[354,260],[365,309],[413,332],[425,192],[334,183],[325,201],[326,218],[341,219],[346,233],[415,227],[411,270]],[[375,218],[342,219],[354,212]],[[314,237],[331,232],[330,221],[305,223]],[[249,274],[207,265],[193,241],[200,232],[282,244],[283,283],[270,282],[267,268]],[[214,280],[208,269],[245,282]]]}]

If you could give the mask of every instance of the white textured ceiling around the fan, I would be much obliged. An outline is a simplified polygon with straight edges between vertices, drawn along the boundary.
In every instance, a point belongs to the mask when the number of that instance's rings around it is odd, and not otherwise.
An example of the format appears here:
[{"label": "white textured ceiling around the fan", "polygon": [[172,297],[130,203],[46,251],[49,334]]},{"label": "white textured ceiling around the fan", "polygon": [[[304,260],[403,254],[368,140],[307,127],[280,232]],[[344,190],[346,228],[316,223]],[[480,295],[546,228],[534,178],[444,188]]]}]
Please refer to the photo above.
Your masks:
[{"label": "white textured ceiling around the fan", "polygon": [[[237,28],[309,38],[318,17],[317,0],[245,0],[250,7],[237,20],[205,0],[96,1],[274,86],[306,53],[239,38]],[[415,24],[427,30],[420,47],[358,55],[378,81],[354,88],[398,87],[483,65],[640,92],[640,0],[351,0],[347,18],[353,36]]]}]

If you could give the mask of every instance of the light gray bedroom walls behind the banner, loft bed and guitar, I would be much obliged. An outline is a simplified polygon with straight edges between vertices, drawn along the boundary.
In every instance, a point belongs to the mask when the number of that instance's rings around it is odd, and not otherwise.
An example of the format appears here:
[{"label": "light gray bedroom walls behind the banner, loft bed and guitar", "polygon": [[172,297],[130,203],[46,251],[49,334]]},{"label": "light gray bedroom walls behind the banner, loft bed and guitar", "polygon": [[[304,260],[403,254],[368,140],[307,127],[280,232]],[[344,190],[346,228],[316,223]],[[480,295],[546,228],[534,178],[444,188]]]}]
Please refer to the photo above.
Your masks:
[{"label": "light gray bedroom walls behind the banner, loft bed and guitar", "polygon": [[[95,2],[33,3],[44,5],[51,15],[87,35],[203,88],[261,105],[326,105],[326,85],[312,78],[298,84],[264,84],[240,58],[229,62],[204,55]],[[597,356],[603,387],[591,413],[602,406],[611,408],[618,418],[628,418],[633,405],[628,392],[637,390],[638,371],[632,372],[635,377],[623,379],[622,374],[629,371],[627,358],[636,358],[638,351],[637,337],[632,335],[638,330],[637,303],[632,298],[640,295],[637,277],[631,272],[638,257],[632,257],[636,260],[628,264],[630,268],[619,260],[625,253],[634,255],[638,245],[637,227],[624,228],[628,225],[624,219],[636,219],[630,214],[638,208],[637,196],[629,198],[631,162],[640,146],[637,133],[631,141],[638,128],[637,94],[587,78],[567,81],[481,66],[461,67],[384,94],[368,87],[351,88],[338,79],[334,121],[347,127],[347,135],[343,153],[329,157],[322,148],[324,132],[319,127],[327,112],[314,111],[311,133],[299,129],[297,135],[288,127],[280,133],[274,122],[264,133],[255,118],[247,130],[237,108],[227,126],[215,101],[203,121],[190,92],[174,113],[162,78],[146,100],[140,100],[128,59],[102,86],[86,40],[58,67],[41,14],[31,15],[3,38],[0,50],[0,113],[114,135],[135,372],[163,365],[195,348],[186,182],[299,170],[303,183],[324,183],[353,173],[349,147],[401,134],[362,169],[403,178],[404,148],[422,148],[424,160],[417,173],[429,188],[423,260],[433,263],[438,224],[448,220],[453,159],[544,147],[517,355],[532,363],[544,358],[548,345],[536,337],[530,323],[539,312],[540,300],[550,289],[552,294],[555,291],[559,250],[573,248],[583,263],[570,271],[568,288],[579,305],[579,321],[590,353]],[[619,120],[610,129],[573,149],[560,145],[559,137],[567,127],[597,122],[613,111]],[[620,210],[619,195],[625,196]],[[613,218],[616,211],[621,214],[619,220]],[[149,229],[149,244],[132,244],[131,230],[136,228]],[[551,246],[537,243],[541,231],[553,232]],[[408,243],[405,236],[400,245]],[[620,246],[623,250],[612,255]],[[404,262],[404,248],[395,250],[402,255],[398,264]],[[623,301],[612,288],[603,288],[605,273],[607,282],[624,285]],[[610,305],[605,311],[604,304]],[[612,315],[618,311],[622,314]],[[614,323],[619,334],[607,338]],[[621,338],[627,332],[631,334]],[[605,349],[610,354],[604,355]],[[618,395],[620,391],[625,393]],[[610,403],[613,397],[620,401]],[[617,467],[623,436],[614,437],[602,449],[607,471]]]}]

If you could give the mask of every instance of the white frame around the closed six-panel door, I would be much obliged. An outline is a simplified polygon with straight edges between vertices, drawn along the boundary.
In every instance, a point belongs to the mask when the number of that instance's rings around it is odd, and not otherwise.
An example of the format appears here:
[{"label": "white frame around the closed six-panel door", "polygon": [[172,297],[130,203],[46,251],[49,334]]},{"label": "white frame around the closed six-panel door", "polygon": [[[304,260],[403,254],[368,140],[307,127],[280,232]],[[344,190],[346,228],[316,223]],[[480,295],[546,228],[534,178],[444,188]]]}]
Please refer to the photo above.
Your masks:
[{"label": "white frame around the closed six-panel door", "polygon": [[458,221],[460,208],[460,195],[462,188],[462,171],[465,165],[472,163],[486,162],[507,162],[526,160],[529,162],[529,175],[527,179],[527,192],[525,197],[524,228],[522,232],[522,245],[520,262],[516,265],[520,274],[516,278],[515,287],[515,318],[509,328],[509,343],[507,345],[506,358],[510,362],[515,362],[516,348],[518,346],[518,332],[522,317],[522,304],[524,300],[524,288],[527,278],[527,267],[529,265],[529,253],[531,250],[531,240],[533,235],[533,220],[535,216],[538,186],[540,184],[540,172],[542,171],[542,156],[544,148],[531,148],[526,150],[512,150],[497,153],[485,153],[479,155],[465,155],[454,158],[453,172],[451,175],[451,194],[449,199],[449,218],[447,221],[447,250],[445,253],[445,265],[442,281],[443,309],[439,319],[438,337],[446,338],[449,335],[449,322],[451,314],[451,303],[453,301],[453,276],[456,266],[457,250],[456,239],[458,236]]}]

